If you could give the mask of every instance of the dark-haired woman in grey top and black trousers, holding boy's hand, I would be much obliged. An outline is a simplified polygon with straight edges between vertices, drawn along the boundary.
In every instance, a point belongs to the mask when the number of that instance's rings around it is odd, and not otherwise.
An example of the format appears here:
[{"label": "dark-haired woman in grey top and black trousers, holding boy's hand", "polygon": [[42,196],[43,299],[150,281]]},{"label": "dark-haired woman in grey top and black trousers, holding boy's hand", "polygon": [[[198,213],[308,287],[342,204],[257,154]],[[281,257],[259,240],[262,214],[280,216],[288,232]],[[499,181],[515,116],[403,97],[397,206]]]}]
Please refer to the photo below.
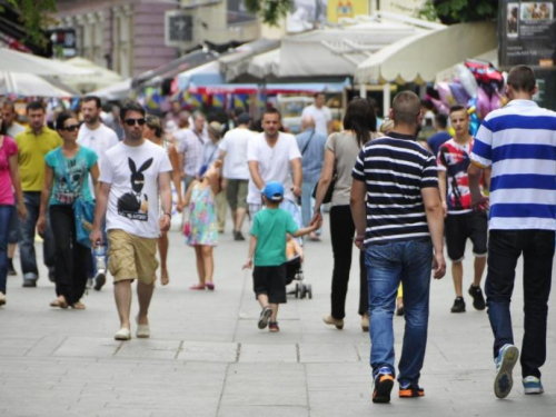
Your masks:
[{"label": "dark-haired woman in grey top and black trousers, holding boy's hand", "polygon": [[[376,137],[376,115],[369,101],[360,98],[353,99],[344,117],[345,130],[330,135],[325,145],[325,165],[315,195],[315,216],[311,224],[320,218],[320,206],[329,191],[328,188],[334,182],[330,201],[330,238],[334,254],[331,310],[322,320],[327,325],[336,326],[337,329],[344,328],[355,237],[355,224],[349,207],[351,171],[364,145]],[[332,177],[335,177],[334,181]],[[361,329],[368,331],[368,288],[363,251],[359,256],[359,279]]]}]

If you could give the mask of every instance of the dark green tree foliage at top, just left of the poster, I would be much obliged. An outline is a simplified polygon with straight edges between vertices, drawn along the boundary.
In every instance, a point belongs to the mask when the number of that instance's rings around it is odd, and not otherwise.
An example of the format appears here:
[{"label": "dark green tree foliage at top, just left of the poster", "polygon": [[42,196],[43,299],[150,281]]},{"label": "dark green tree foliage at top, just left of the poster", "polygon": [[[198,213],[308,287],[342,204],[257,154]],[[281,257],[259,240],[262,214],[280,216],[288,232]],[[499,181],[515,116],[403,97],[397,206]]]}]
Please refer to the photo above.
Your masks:
[{"label": "dark green tree foliage at top, just left of the poster", "polygon": [[496,19],[498,0],[427,0],[419,17],[445,24]]}]

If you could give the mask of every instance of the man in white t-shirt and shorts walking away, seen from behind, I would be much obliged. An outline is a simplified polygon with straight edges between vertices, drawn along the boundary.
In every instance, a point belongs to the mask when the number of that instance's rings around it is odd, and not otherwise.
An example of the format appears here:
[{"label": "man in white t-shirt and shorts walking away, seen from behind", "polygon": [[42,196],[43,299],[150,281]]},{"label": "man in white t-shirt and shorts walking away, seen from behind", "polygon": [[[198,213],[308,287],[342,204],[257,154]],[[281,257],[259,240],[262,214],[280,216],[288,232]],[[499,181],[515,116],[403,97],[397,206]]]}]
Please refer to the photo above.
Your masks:
[{"label": "man in white t-shirt and shorts walking away, seen from behind", "polygon": [[236,121],[238,127],[228,130],[218,148],[220,149],[219,159],[224,161],[226,199],[230,205],[231,218],[234,219],[234,240],[245,240],[241,227],[247,214],[247,187],[249,183],[247,145],[257,133],[249,130],[251,118],[248,113],[239,115]]}]

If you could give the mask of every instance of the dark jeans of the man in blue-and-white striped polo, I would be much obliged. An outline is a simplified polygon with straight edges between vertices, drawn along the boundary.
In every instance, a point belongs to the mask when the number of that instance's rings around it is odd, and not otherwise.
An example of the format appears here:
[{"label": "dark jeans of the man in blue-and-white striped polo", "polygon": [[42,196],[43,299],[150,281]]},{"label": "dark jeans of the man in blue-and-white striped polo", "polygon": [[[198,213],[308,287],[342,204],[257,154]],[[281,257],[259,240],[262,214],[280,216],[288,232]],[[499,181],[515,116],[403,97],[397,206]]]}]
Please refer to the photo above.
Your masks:
[{"label": "dark jeans of the man in blue-and-white striped polo", "polygon": [[523,376],[540,377],[546,360],[546,320],[554,258],[554,231],[492,230],[485,284],[488,318],[494,332],[494,357],[505,344],[514,344],[509,305],[517,259],[524,257]]}]

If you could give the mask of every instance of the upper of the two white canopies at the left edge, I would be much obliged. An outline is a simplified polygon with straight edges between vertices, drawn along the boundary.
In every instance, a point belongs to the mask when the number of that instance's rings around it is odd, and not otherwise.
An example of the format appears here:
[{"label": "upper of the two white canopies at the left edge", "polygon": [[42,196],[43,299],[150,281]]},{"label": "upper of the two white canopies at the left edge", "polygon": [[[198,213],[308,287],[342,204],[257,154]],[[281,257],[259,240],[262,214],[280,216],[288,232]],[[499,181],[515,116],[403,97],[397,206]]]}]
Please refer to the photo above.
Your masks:
[{"label": "upper of the two white canopies at the left edge", "polygon": [[83,76],[92,71],[30,53],[0,48],[0,71],[36,76]]}]

